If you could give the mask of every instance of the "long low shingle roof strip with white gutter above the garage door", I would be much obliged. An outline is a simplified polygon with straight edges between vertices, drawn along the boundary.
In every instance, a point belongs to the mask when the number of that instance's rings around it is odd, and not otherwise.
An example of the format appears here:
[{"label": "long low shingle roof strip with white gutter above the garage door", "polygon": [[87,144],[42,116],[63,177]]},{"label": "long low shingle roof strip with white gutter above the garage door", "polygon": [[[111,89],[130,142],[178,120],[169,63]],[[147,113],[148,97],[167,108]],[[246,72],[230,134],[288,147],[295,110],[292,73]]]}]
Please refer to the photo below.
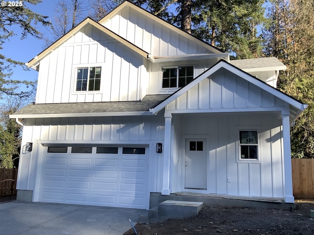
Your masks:
[{"label": "long low shingle roof strip with white gutter above the garage door", "polygon": [[151,107],[169,94],[146,95],[141,101],[114,101],[90,103],[29,104],[10,115],[10,118],[98,117],[152,115]]}]

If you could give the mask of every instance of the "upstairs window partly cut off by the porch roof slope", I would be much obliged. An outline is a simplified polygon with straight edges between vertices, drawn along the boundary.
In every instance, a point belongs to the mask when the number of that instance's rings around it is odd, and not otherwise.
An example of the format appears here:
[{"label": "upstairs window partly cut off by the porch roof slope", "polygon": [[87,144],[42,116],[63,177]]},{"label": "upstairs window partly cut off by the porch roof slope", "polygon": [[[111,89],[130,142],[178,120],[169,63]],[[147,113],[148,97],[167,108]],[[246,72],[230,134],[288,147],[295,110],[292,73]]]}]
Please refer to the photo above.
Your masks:
[{"label": "upstairs window partly cut off by the porch roof slope", "polygon": [[194,78],[193,66],[162,68],[162,88],[180,88]]}]

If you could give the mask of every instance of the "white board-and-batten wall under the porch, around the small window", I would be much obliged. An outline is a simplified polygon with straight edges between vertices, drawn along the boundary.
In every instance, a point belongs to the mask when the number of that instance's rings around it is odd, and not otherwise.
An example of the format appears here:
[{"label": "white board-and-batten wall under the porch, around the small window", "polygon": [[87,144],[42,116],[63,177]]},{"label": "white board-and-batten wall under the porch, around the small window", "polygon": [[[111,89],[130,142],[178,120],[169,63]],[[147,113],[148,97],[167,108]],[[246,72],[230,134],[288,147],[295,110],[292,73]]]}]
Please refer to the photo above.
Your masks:
[{"label": "white board-and-batten wall under the porch, around the small window", "polygon": [[[180,136],[202,135],[209,139],[208,188],[199,193],[284,197],[282,127],[278,114],[186,114],[179,119]],[[258,161],[240,160],[239,130],[258,130]],[[180,167],[184,172],[184,158],[179,157],[178,167],[174,168],[180,172]],[[180,184],[173,184],[177,187],[174,191],[184,190]]]}]

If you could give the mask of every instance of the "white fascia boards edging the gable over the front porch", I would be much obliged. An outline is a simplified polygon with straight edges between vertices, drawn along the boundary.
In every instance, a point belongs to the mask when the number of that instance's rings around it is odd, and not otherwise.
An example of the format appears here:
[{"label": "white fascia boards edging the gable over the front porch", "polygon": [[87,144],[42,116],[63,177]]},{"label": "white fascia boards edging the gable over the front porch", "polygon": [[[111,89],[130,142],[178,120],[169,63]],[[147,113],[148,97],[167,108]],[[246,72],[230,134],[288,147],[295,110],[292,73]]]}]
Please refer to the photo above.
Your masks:
[{"label": "white fascia boards edging the gable over the front porch", "polygon": [[234,65],[228,63],[225,60],[220,60],[217,62],[215,65],[213,65],[211,68],[208,70],[204,71],[202,74],[194,78],[190,83],[186,84],[184,87],[179,89],[177,92],[171,94],[169,97],[161,101],[159,104],[157,104],[155,107],[150,109],[150,111],[153,114],[157,114],[160,110],[162,110],[166,105],[170,104],[172,101],[174,101],[176,98],[187,92],[189,89],[203,81],[204,79],[207,79],[211,74],[214,72],[220,70],[221,68],[224,68],[228,71],[233,72],[234,74],[238,75],[239,77],[245,79],[246,81],[260,87],[262,90],[273,94],[274,96],[278,97],[279,99],[284,100],[289,104],[290,108],[290,116],[293,119],[293,121],[298,118],[298,116],[301,114],[301,112],[307,108],[307,104],[304,104],[297,99],[288,96],[287,94],[275,89],[274,87],[266,84],[265,82],[257,79],[256,77],[250,75],[249,73],[240,70],[239,68],[235,67]]}]

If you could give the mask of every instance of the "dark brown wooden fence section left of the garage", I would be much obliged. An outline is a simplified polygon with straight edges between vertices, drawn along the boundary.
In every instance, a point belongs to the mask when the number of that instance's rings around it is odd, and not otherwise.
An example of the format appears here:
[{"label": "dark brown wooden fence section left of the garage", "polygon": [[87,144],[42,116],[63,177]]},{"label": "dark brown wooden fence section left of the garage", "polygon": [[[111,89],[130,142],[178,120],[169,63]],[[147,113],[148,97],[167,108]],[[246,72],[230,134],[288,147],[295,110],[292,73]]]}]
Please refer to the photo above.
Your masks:
[{"label": "dark brown wooden fence section left of the garage", "polygon": [[18,169],[0,168],[0,195],[13,195],[17,193],[16,180]]}]

